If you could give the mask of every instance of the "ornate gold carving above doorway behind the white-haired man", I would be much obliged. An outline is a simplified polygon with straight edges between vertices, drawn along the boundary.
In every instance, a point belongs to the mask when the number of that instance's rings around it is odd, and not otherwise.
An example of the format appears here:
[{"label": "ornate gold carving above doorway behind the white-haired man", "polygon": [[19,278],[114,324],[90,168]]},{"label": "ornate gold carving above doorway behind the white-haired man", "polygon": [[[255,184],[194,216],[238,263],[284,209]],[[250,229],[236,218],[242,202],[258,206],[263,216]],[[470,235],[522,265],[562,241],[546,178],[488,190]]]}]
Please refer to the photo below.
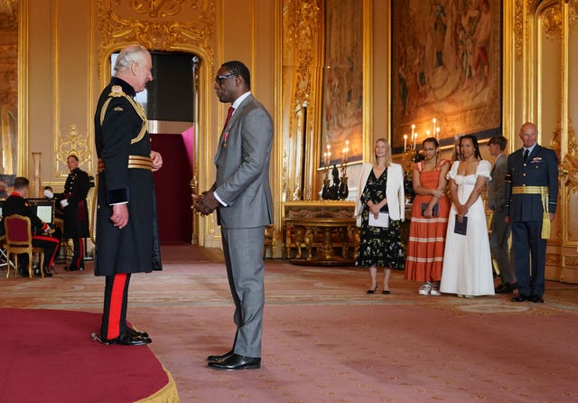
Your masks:
[{"label": "ornate gold carving above doorway behind the white-haired man", "polygon": [[199,49],[212,65],[215,2],[197,0],[182,7],[179,0],[98,0],[98,29],[103,37],[98,60],[104,61],[127,43],[138,42],[156,51]]}]

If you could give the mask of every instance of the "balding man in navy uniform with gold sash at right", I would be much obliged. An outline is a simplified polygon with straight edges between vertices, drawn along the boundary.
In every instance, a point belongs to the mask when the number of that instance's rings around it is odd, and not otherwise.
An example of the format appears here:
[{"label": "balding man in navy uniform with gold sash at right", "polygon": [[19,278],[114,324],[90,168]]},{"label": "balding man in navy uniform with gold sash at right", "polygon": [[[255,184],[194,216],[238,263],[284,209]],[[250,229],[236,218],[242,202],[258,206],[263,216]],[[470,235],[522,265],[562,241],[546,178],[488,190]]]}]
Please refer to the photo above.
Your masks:
[{"label": "balding man in navy uniform with gold sash at right", "polygon": [[536,143],[536,125],[525,123],[522,148],[508,156],[506,220],[511,223],[517,296],[513,302],[544,303],[545,248],[558,199],[558,158]]}]

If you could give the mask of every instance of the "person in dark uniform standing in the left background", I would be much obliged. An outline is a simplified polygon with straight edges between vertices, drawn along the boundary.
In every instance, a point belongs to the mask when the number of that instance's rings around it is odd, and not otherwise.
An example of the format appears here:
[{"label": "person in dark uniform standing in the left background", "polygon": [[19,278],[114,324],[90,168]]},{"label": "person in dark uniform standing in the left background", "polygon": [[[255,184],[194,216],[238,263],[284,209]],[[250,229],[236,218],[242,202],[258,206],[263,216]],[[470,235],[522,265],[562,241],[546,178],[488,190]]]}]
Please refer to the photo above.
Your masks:
[{"label": "person in dark uniform standing in the left background", "polygon": [[89,174],[79,168],[79,158],[69,155],[66,159],[70,173],[64,183],[61,206],[64,211],[64,239],[72,239],[72,260],[65,270],[84,270],[84,239],[90,236],[87,195],[90,189]]}]

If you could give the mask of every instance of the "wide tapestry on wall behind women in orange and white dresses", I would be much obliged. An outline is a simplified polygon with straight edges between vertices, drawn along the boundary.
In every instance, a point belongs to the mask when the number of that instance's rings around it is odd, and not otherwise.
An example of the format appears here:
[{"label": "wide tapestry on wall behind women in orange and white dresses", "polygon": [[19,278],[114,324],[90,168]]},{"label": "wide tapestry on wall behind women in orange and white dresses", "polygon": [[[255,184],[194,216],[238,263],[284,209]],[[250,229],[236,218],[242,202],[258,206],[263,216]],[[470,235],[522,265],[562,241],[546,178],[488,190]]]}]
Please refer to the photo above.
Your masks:
[{"label": "wide tapestry on wall behind women in orange and white dresses", "polygon": [[502,134],[501,0],[394,0],[391,143]]}]

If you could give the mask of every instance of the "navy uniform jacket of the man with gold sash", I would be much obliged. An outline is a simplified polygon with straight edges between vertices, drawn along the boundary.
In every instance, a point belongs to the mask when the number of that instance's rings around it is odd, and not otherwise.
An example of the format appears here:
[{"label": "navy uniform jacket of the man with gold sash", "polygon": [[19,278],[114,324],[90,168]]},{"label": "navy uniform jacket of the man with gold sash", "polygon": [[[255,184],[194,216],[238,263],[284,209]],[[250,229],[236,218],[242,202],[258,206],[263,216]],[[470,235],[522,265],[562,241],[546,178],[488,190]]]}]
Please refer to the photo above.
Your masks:
[{"label": "navy uniform jacket of the man with gold sash", "polygon": [[548,212],[556,212],[558,158],[554,150],[536,145],[524,162],[523,148],[508,156],[506,208],[512,221],[541,221],[544,216],[540,194],[512,194],[515,186],[547,186]]}]

